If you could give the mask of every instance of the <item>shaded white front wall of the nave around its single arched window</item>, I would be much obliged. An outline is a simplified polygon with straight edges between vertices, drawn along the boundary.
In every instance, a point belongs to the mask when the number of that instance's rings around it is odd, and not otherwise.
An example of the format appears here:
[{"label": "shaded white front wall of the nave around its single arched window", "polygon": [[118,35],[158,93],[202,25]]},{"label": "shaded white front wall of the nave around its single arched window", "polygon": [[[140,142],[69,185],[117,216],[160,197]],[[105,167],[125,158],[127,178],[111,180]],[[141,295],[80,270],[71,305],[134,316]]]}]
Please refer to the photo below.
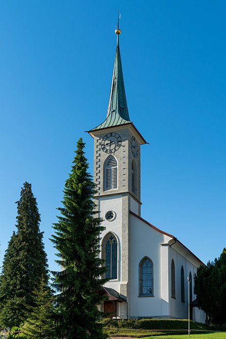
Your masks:
[{"label": "shaded white front wall of the nave around its single arched window", "polygon": [[[171,238],[157,232],[131,215],[131,318],[168,317],[169,307],[162,310],[161,246]],[[139,263],[145,257],[153,262],[153,294],[139,297]],[[166,301],[167,302],[167,301]],[[163,314],[164,312],[164,314]]]}]

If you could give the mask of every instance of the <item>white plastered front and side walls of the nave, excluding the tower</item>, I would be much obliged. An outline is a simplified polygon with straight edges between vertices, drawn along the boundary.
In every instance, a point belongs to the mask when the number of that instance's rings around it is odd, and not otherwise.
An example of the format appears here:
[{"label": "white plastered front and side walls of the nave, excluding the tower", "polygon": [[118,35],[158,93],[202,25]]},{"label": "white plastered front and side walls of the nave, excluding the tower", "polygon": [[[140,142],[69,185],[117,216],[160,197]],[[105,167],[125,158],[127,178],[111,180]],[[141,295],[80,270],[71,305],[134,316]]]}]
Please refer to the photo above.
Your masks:
[{"label": "white plastered front and side walls of the nave, excluding the tower", "polygon": [[[153,294],[139,297],[139,263],[145,256],[153,262]],[[176,298],[171,297],[171,261],[175,263]],[[181,301],[181,265],[184,268],[185,302]],[[185,251],[171,237],[158,232],[131,215],[131,318],[188,318],[187,276],[193,274],[200,261]],[[192,292],[192,300],[195,299]],[[194,321],[205,322],[205,313],[193,308]]]}]

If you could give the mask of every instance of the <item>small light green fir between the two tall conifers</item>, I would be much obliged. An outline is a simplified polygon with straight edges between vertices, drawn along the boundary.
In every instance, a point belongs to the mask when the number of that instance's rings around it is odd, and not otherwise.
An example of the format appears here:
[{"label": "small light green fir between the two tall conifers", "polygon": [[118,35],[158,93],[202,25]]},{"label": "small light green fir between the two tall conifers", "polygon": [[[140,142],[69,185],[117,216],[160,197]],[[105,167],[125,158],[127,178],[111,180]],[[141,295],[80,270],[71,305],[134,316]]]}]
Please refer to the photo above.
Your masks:
[{"label": "small light green fir between the two tall conifers", "polygon": [[26,338],[51,339],[54,337],[53,296],[46,286],[43,276],[40,285],[34,290],[34,307],[29,307],[27,320],[21,327]]}]

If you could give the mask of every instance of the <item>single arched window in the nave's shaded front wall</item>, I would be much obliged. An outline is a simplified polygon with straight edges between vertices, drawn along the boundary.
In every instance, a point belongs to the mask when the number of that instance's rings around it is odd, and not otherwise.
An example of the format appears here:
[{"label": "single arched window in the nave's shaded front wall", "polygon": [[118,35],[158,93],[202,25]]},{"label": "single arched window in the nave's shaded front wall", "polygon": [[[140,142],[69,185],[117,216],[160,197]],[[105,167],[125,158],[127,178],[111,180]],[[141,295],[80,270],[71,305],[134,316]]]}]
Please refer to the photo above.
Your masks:
[{"label": "single arched window in the nave's shaded front wall", "polygon": [[153,263],[148,257],[139,264],[139,295],[153,296]]}]

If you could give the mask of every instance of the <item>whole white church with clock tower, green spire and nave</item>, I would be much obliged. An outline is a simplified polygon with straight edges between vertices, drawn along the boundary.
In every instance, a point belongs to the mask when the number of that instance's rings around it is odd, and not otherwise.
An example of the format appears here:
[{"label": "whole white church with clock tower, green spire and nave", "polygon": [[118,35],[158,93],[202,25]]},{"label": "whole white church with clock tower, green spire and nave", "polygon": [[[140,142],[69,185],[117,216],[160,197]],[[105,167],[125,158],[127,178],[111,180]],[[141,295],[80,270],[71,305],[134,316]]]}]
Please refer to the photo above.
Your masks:
[{"label": "whole white church with clock tower, green spire and nave", "polygon": [[[100,256],[109,282],[100,310],[120,319],[190,319],[205,322],[195,306],[193,274],[203,262],[176,237],[141,217],[141,157],[144,137],[130,120],[117,47],[107,117],[88,133],[94,139],[94,202],[104,220]],[[188,280],[190,278],[189,288]],[[189,289],[189,291],[188,291]],[[189,292],[189,293],[188,293]]]}]

